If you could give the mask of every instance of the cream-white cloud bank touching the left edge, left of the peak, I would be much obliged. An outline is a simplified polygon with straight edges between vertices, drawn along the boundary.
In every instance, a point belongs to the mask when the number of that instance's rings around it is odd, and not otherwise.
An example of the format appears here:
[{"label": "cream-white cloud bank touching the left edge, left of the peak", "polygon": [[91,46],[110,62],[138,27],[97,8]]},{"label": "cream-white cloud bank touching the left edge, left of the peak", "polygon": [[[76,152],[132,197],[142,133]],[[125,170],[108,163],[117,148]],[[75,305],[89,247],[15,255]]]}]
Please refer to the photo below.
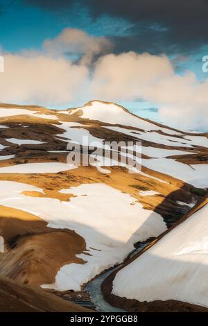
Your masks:
[{"label": "cream-white cloud bank touching the left edge, left of the peak", "polygon": [[0,74],[0,101],[66,105],[79,98],[88,69],[65,58],[49,55],[4,55],[5,71]]}]

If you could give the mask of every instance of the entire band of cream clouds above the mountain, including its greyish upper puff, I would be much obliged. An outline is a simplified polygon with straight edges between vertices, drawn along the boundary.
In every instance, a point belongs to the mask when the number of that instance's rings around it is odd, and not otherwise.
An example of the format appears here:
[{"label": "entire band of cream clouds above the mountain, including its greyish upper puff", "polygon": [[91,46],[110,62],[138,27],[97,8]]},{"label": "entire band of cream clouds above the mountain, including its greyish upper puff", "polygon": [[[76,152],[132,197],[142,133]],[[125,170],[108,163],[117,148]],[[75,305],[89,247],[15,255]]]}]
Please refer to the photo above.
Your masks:
[{"label": "entire band of cream clouds above the mountain, including its greyish upper puff", "polygon": [[[46,40],[40,52],[4,53],[0,101],[61,107],[80,99],[84,103],[94,98],[142,98],[158,105],[167,124],[207,128],[208,80],[200,83],[190,71],[177,75],[166,55],[103,54],[109,49],[105,37],[67,28]],[[81,53],[80,62],[71,62],[66,52]]]}]

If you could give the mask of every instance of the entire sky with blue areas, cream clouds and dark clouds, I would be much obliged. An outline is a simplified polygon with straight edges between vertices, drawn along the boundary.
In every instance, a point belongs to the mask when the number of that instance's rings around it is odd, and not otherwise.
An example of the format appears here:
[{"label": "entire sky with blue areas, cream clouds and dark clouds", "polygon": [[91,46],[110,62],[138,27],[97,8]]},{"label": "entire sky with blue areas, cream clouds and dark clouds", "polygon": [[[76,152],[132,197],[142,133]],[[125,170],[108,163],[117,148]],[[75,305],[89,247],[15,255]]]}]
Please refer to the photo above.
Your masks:
[{"label": "entire sky with blue areas, cream clouds and dark clouds", "polygon": [[0,0],[0,101],[100,99],[207,132],[207,17],[208,0]]}]

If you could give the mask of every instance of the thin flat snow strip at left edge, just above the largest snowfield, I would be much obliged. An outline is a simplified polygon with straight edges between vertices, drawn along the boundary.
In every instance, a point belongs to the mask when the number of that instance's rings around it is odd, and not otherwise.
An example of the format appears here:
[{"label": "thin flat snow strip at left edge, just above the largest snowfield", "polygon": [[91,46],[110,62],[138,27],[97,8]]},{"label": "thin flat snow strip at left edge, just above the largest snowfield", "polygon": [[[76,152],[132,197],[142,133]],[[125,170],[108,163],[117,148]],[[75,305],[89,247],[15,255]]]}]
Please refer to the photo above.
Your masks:
[{"label": "thin flat snow strip at left edge, just above the largest snowfield", "polygon": [[0,173],[58,173],[78,166],[60,162],[25,163],[0,168]]}]

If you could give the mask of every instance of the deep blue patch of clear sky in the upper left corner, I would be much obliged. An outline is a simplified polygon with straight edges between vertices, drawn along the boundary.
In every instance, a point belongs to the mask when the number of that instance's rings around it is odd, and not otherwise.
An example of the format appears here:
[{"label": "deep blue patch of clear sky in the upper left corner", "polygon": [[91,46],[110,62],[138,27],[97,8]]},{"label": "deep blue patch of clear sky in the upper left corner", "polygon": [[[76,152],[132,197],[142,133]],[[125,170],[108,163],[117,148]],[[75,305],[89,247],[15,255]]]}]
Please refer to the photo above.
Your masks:
[{"label": "deep blue patch of clear sky in the upper left corner", "polygon": [[6,51],[40,49],[46,38],[53,38],[63,28],[80,28],[92,35],[128,35],[132,26],[125,19],[104,15],[93,19],[87,7],[75,3],[67,11],[50,11],[27,6],[21,0],[4,1],[0,20],[1,46]]}]

